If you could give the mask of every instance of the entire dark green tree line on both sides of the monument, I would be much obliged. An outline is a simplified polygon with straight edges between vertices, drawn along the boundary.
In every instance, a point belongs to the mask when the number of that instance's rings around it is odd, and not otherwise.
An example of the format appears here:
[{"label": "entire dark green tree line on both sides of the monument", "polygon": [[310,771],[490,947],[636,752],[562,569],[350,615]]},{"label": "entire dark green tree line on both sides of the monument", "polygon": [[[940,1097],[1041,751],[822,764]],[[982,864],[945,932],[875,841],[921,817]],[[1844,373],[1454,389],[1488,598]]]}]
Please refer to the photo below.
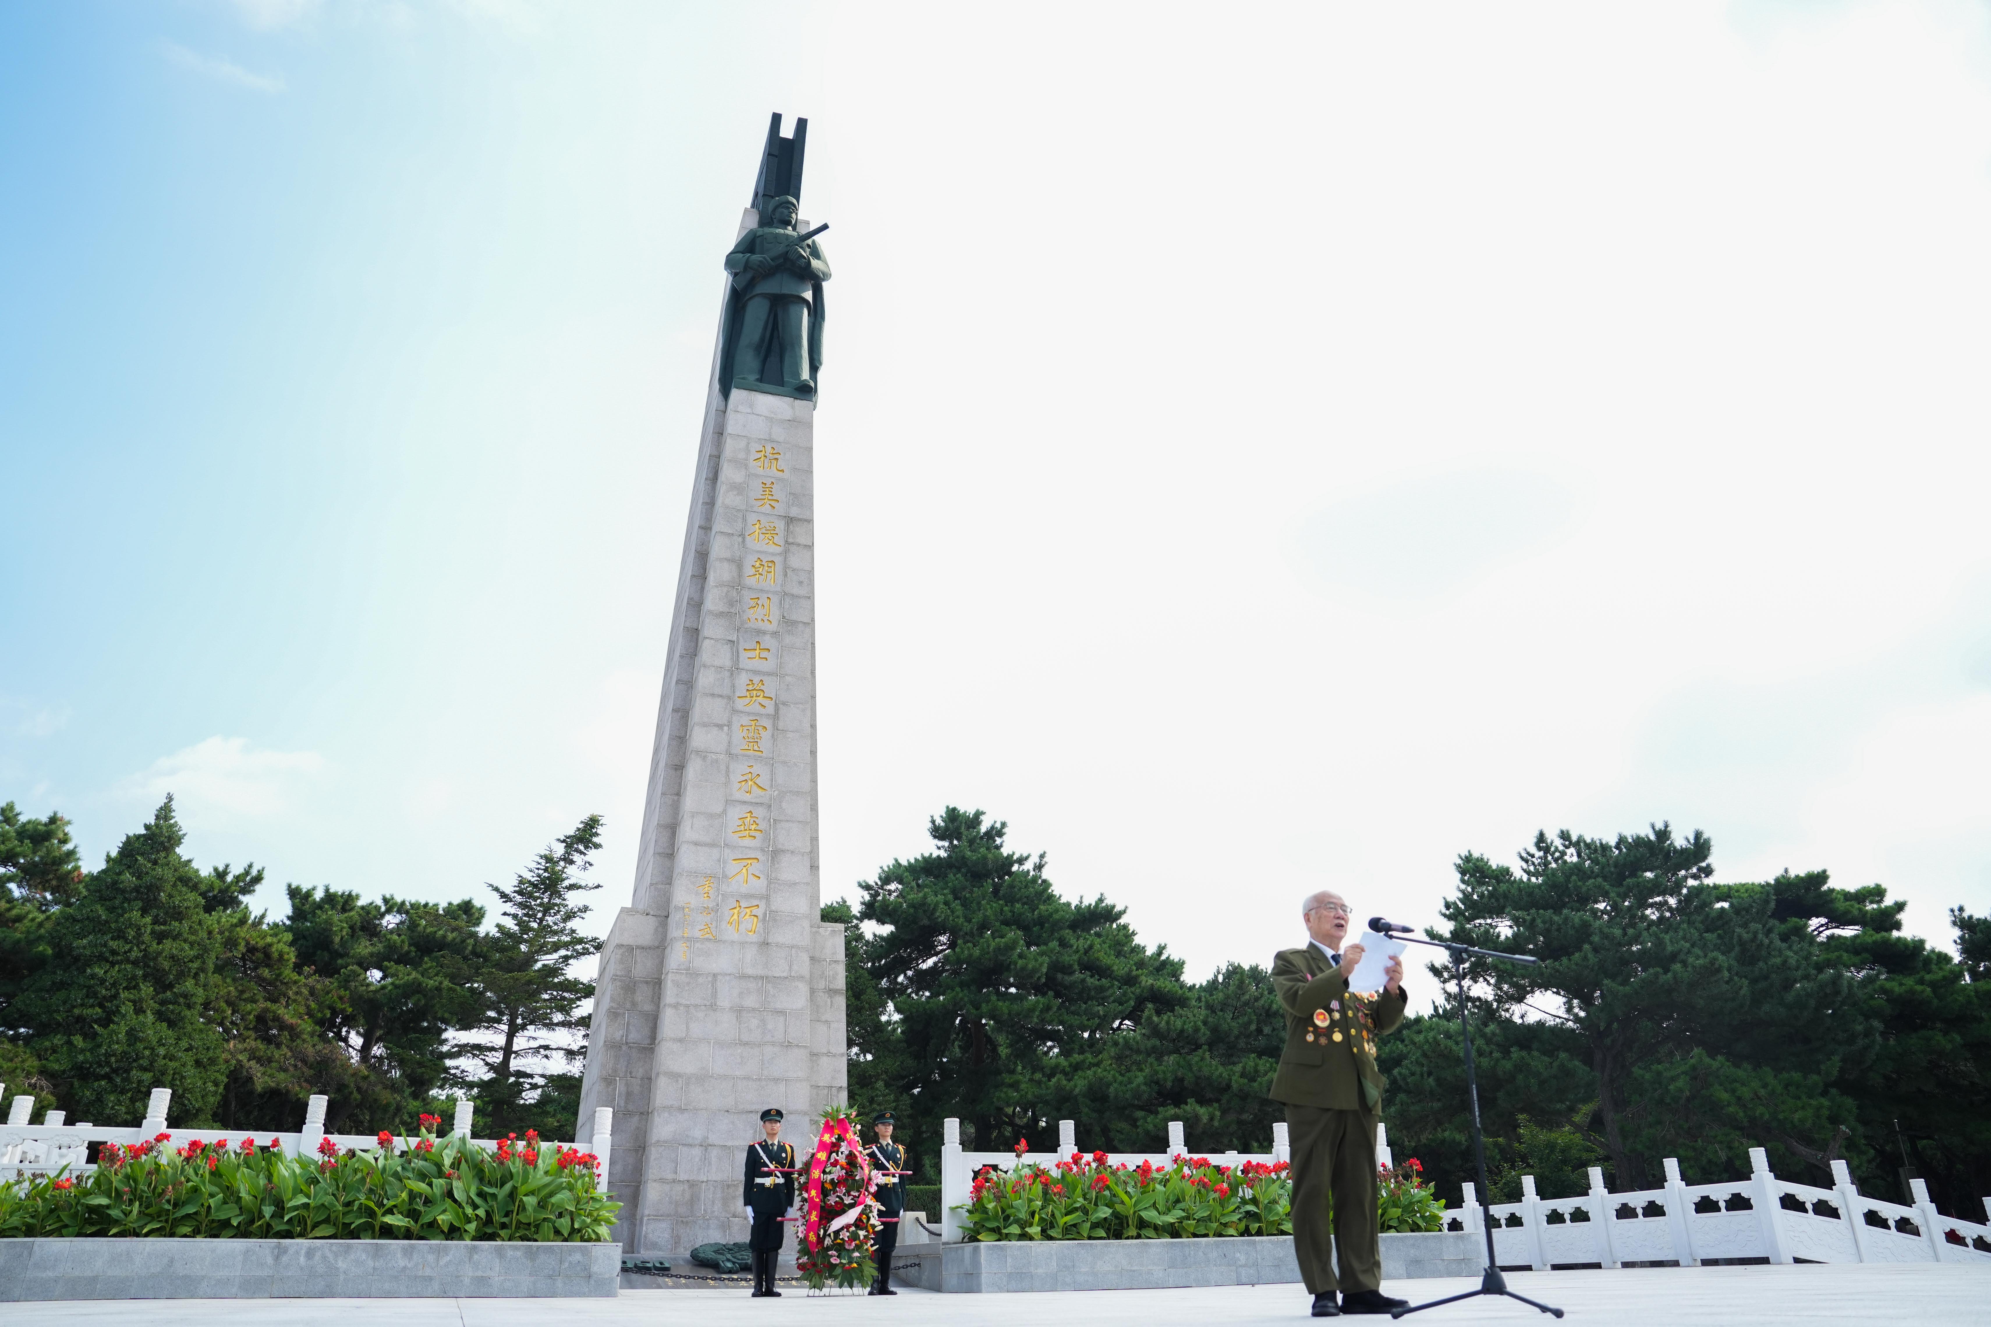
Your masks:
[{"label": "entire dark green tree line on both sides of the monument", "polygon": [[[96,1122],[137,1120],[171,1086],[175,1122],[257,1132],[295,1128],[313,1092],[344,1132],[406,1128],[464,1092],[480,1132],[563,1138],[599,832],[585,818],[494,887],[496,917],[287,885],[289,917],[271,921],[251,903],[261,869],[185,857],[171,800],[96,871],[62,816],[4,804],[0,1082]],[[932,852],[822,909],[846,923],[852,1104],[898,1114],[920,1180],[938,1180],[948,1116],[992,1152],[1041,1148],[1057,1120],[1115,1152],[1161,1150],[1169,1120],[1199,1152],[1270,1148],[1284,1025],[1264,965],[1185,981],[1123,907],[1063,897],[1001,822],[948,808],[928,832]],[[1467,967],[1495,1196],[1519,1196],[1521,1174],[1573,1196],[1589,1166],[1647,1188],[1664,1156],[1740,1178],[1764,1146],[1794,1180],[1828,1184],[1844,1158],[1866,1192],[1899,1198],[1919,1174],[1945,1212],[1975,1216],[1991,1192],[1991,917],[1953,909],[1949,953],[1905,935],[1881,885],[1722,883],[1712,852],[1653,826],[1539,834],[1513,865],[1457,859],[1432,935],[1541,959]],[[1384,1118],[1457,1202],[1459,1009],[1443,965],[1410,983],[1436,1009],[1378,1043]]]}]

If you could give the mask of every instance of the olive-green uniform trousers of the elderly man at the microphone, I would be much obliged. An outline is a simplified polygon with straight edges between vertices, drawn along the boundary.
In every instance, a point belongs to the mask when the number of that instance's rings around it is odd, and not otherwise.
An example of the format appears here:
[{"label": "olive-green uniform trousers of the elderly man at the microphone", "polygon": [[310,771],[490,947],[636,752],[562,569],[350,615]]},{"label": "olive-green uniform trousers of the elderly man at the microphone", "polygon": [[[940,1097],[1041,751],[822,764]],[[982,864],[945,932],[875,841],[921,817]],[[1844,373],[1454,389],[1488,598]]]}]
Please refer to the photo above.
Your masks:
[{"label": "olive-green uniform trousers of the elderly man at the microphone", "polygon": [[[1382,1289],[1376,1235],[1376,1116],[1286,1104],[1292,1251],[1312,1295]],[[1334,1257],[1340,1253],[1340,1277]]]}]

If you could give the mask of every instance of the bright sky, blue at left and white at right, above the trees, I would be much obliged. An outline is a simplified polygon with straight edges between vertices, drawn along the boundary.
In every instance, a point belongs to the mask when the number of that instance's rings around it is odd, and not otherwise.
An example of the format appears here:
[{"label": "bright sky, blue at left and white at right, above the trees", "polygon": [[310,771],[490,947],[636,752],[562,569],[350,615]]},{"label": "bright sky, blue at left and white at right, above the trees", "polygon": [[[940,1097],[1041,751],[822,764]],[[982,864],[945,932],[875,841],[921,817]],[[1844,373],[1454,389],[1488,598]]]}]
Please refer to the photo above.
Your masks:
[{"label": "bright sky, blue at left and white at right, above the trees", "polygon": [[1201,975],[1666,820],[1947,943],[1987,16],[4,6],[0,800],[412,897],[601,812],[605,929],[778,109],[826,897],[986,808]]}]

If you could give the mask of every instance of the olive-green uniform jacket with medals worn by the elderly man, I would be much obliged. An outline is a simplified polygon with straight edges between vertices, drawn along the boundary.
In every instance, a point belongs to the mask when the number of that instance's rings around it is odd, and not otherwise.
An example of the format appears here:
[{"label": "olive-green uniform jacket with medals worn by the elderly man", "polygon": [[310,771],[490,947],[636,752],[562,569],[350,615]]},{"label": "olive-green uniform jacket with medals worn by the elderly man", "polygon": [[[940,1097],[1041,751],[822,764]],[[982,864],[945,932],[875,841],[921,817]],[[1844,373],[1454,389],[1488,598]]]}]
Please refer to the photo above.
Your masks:
[{"label": "olive-green uniform jacket with medals worn by the elderly man", "polygon": [[1376,1037],[1404,1021],[1404,989],[1350,997],[1342,971],[1318,945],[1308,945],[1278,951],[1272,991],[1286,1011],[1272,1100],[1378,1114],[1384,1076],[1376,1068]]}]

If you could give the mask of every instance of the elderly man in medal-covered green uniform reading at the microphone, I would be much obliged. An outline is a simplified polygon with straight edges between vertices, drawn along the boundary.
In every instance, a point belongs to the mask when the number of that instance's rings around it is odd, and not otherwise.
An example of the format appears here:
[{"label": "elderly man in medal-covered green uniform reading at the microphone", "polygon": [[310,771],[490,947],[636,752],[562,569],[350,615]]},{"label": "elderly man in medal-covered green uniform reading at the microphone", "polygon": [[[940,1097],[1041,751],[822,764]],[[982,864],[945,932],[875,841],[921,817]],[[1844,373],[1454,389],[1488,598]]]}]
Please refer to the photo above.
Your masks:
[{"label": "elderly man in medal-covered green uniform reading at the microphone", "polygon": [[[1406,1301],[1382,1293],[1376,1037],[1404,1021],[1404,961],[1390,959],[1382,991],[1350,991],[1362,945],[1348,943],[1348,901],[1322,889],[1300,905],[1300,919],[1306,947],[1272,959],[1272,989],[1286,1011],[1272,1100],[1286,1102],[1292,1142],[1292,1247],[1314,1317],[1388,1313]],[[1338,1277],[1330,1251],[1340,1253]]]}]

